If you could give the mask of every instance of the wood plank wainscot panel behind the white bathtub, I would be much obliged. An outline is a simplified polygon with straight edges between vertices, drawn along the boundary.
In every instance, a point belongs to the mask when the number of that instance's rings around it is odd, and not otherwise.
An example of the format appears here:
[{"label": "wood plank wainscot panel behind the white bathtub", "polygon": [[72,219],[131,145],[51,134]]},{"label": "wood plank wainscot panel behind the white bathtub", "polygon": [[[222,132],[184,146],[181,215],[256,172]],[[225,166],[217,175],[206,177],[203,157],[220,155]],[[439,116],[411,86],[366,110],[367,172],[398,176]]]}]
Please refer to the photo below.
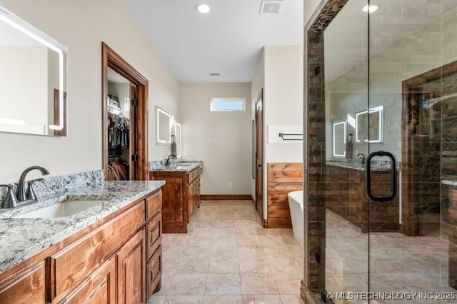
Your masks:
[{"label": "wood plank wainscot panel behind the white bathtub", "polygon": [[266,228],[292,228],[288,193],[303,190],[303,163],[267,164]]}]

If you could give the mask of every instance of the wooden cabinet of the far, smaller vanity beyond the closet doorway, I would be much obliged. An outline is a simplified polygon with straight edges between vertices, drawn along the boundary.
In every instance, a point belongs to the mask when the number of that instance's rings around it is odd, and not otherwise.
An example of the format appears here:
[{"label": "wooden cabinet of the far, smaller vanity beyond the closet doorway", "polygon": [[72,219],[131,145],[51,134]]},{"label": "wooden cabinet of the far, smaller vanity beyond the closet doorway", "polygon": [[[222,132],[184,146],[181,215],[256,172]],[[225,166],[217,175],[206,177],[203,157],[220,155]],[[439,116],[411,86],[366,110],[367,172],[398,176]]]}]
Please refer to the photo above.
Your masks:
[{"label": "wooden cabinet of the far, smaller vanity beyond the closet doorway", "polygon": [[162,187],[164,233],[187,233],[187,224],[200,204],[201,168],[192,171],[151,171],[149,179],[166,181]]}]

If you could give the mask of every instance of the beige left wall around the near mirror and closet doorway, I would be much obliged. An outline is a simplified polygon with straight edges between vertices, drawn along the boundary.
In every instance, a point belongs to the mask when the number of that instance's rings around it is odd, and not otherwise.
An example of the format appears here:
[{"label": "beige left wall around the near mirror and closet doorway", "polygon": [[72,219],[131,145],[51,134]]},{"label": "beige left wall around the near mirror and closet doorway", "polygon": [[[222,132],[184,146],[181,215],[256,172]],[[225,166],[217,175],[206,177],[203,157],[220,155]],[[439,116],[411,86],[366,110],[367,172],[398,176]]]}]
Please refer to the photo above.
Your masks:
[{"label": "beige left wall around the near mirror and closet doorway", "polygon": [[[150,113],[158,105],[179,119],[179,81],[122,0],[0,0],[0,5],[69,50],[68,137],[0,133],[2,183],[16,181],[31,165],[44,166],[52,175],[101,168],[101,41],[148,78]],[[149,118],[149,160],[164,158],[169,147],[155,145],[155,118]]]}]

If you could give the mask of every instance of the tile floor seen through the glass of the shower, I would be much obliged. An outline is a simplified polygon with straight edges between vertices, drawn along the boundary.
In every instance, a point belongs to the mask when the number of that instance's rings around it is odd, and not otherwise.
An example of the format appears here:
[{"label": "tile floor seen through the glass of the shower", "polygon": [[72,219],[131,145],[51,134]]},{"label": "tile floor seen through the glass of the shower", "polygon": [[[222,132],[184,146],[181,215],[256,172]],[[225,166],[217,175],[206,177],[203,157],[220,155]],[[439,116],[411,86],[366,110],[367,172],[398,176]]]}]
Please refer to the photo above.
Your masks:
[{"label": "tile floor seen through the glass of the shower", "polygon": [[[435,234],[370,234],[370,290],[373,292],[447,292],[449,243]],[[368,234],[338,214],[326,211],[326,290],[368,290]],[[371,303],[401,303],[375,300]],[[457,303],[456,300],[410,300],[407,303]],[[368,303],[340,300],[335,303]]]}]

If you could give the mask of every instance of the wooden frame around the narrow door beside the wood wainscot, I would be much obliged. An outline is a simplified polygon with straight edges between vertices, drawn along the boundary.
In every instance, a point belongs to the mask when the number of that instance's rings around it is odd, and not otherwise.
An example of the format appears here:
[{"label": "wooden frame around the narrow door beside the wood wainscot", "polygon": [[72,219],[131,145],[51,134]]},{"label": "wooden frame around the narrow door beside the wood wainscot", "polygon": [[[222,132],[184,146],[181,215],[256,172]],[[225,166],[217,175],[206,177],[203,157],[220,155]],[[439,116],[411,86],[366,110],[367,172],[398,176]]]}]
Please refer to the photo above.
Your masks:
[{"label": "wooden frame around the narrow door beside the wood wainscot", "polygon": [[[262,103],[262,119],[261,119],[261,123],[262,125],[260,126],[261,128],[261,132],[262,132],[262,136],[261,138],[258,138],[258,121],[257,121],[257,104],[261,102]],[[265,193],[265,189],[263,187],[263,176],[264,176],[264,172],[263,172],[263,159],[264,159],[264,156],[265,156],[265,153],[264,153],[264,146],[263,146],[263,121],[264,121],[264,115],[263,115],[263,108],[264,108],[264,104],[263,103],[263,88],[261,88],[260,92],[258,92],[258,95],[256,97],[256,99],[254,100],[254,129],[255,129],[255,144],[254,144],[254,147],[255,147],[255,151],[254,151],[254,164],[255,164],[255,190],[256,190],[256,194],[255,194],[255,201],[256,201],[256,211],[258,213],[258,216],[260,216],[261,218],[261,221],[262,221],[262,226],[263,228],[266,228],[267,226],[267,221],[265,218],[263,218],[263,196],[264,196],[264,193]],[[261,163],[261,168],[262,168],[262,173],[259,174],[258,173],[258,166],[259,164],[257,163],[257,159],[258,159],[258,141],[261,141],[261,160],[262,160],[262,163]],[[260,183],[258,182],[258,180],[260,179]],[[258,185],[260,186],[260,190],[261,191],[258,191]],[[258,196],[261,196],[261,202],[258,202]]]}]

